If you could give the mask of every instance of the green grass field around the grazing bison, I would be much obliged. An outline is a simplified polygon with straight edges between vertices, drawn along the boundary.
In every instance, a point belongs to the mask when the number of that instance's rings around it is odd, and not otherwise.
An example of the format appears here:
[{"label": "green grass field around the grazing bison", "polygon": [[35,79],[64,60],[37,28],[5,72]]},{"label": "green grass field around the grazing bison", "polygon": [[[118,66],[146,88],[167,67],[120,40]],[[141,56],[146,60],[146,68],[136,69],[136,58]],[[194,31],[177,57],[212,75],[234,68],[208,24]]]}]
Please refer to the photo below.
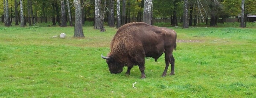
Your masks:
[{"label": "green grass field around the grazing bison", "polygon": [[[256,28],[190,27],[177,31],[175,75],[162,77],[164,55],[111,74],[101,59],[117,29],[0,27],[1,98],[256,98]],[[66,38],[52,38],[66,33]],[[170,68],[168,69],[170,73]]]}]

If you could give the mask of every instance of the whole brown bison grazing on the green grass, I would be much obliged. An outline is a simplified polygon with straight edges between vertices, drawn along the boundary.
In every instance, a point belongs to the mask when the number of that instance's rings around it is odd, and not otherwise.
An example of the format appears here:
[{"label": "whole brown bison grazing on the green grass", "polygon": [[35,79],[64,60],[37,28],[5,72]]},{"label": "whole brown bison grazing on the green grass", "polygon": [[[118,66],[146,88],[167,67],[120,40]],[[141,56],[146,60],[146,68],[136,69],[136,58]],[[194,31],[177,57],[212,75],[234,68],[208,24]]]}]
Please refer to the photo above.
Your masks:
[{"label": "whole brown bison grazing on the green grass", "polygon": [[164,53],[166,67],[162,76],[166,76],[170,63],[170,75],[174,75],[172,51],[176,48],[176,38],[176,32],[166,27],[151,26],[143,22],[128,23],[116,32],[108,56],[101,54],[101,57],[106,59],[110,73],[120,73],[127,66],[126,74],[130,74],[131,68],[138,65],[141,78],[146,78],[145,57],[153,57],[157,61]]}]

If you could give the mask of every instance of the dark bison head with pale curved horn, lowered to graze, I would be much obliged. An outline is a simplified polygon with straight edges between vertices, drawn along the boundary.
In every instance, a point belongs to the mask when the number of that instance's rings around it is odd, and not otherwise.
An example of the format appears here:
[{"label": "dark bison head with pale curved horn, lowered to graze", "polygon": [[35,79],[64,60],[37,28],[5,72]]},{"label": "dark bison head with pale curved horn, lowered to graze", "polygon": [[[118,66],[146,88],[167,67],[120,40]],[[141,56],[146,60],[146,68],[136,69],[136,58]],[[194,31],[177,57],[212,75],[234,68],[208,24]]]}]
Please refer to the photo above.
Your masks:
[{"label": "dark bison head with pale curved horn, lowered to graze", "polygon": [[106,62],[108,64],[108,69],[110,70],[110,73],[121,73],[123,71],[123,67],[125,64],[119,62],[118,60],[114,59],[114,57],[109,56],[105,57],[101,54],[101,57],[103,59],[106,59]]}]

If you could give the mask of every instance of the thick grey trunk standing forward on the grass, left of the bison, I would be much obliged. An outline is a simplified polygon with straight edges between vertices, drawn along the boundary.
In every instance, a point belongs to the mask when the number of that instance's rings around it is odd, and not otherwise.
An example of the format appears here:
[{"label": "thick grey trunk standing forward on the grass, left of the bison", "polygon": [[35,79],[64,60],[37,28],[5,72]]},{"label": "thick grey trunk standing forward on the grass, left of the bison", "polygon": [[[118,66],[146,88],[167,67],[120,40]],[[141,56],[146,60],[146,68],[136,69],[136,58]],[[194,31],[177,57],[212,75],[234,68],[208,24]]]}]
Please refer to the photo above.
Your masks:
[{"label": "thick grey trunk standing forward on the grass, left of the bison", "polygon": [[75,5],[75,38],[84,38],[83,24],[82,24],[82,9],[80,0],[74,0]]}]

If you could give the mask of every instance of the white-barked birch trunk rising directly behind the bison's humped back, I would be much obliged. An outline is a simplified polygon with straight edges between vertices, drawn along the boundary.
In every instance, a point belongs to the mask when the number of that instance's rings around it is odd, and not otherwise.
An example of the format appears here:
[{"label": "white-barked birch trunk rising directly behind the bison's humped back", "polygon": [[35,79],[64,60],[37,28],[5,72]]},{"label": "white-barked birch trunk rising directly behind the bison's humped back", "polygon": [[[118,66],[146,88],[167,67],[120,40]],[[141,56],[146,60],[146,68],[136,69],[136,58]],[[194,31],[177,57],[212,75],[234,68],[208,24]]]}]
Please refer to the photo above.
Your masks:
[{"label": "white-barked birch trunk rising directly behind the bison's humped back", "polygon": [[152,0],[144,0],[143,22],[152,24]]}]

